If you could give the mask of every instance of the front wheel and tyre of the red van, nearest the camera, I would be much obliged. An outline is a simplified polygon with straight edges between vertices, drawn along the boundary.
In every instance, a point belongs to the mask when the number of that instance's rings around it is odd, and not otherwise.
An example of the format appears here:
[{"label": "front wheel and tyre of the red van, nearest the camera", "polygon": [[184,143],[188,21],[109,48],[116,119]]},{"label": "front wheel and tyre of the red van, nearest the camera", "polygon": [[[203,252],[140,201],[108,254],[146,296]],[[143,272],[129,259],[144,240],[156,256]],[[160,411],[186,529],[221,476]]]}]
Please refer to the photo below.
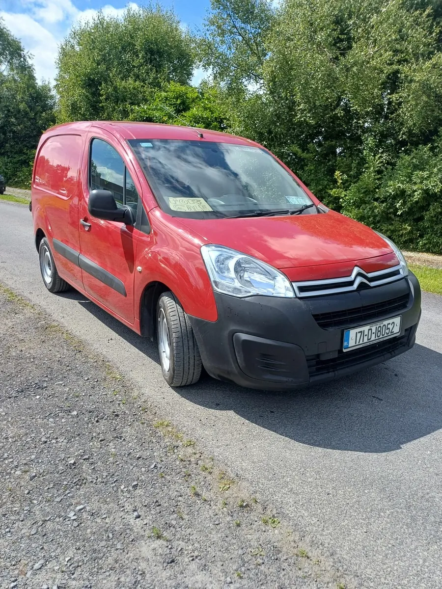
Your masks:
[{"label": "front wheel and tyre of the red van, nearest the camera", "polygon": [[164,379],[170,386],[193,385],[201,375],[200,351],[189,317],[171,292],[158,300],[156,325]]}]

